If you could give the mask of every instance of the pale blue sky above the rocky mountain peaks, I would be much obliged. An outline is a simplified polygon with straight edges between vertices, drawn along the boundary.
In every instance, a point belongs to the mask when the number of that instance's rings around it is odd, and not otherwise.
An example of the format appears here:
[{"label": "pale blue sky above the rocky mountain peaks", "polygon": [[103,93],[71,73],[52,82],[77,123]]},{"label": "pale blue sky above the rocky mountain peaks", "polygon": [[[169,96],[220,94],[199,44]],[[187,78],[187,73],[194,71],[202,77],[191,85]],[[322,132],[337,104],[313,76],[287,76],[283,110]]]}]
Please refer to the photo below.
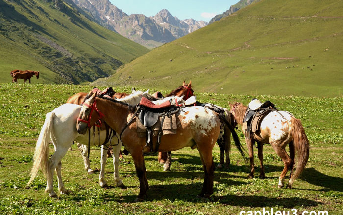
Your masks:
[{"label": "pale blue sky above the rocky mountain peaks", "polygon": [[239,0],[110,0],[126,14],[154,16],[167,9],[180,20],[193,18],[196,21],[210,21],[212,17],[228,10]]}]

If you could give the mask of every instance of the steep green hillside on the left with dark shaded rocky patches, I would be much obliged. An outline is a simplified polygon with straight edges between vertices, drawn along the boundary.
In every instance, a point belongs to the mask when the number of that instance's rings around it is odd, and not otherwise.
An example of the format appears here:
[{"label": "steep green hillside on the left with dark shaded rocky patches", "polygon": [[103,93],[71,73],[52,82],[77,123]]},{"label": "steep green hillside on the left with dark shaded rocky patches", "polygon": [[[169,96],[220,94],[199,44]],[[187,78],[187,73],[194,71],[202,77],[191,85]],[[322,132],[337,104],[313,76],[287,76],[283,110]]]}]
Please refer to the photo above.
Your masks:
[{"label": "steep green hillside on the left with dark shaded rocky patches", "polygon": [[41,71],[34,83],[91,82],[148,51],[73,2],[0,0],[0,82],[13,69]]}]

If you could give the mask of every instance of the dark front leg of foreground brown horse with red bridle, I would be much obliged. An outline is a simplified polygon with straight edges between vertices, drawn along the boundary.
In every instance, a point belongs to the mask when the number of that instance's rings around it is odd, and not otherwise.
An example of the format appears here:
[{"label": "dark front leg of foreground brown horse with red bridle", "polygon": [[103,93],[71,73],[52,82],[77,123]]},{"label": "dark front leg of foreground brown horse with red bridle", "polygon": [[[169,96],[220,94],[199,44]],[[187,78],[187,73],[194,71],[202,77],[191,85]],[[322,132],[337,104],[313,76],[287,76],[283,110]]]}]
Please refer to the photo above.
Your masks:
[{"label": "dark front leg of foreground brown horse with red bridle", "polygon": [[131,152],[133,162],[135,164],[137,176],[139,178],[139,185],[140,185],[140,192],[139,192],[137,198],[135,199],[135,202],[141,202],[141,201],[144,201],[144,199],[147,195],[147,187],[146,187],[146,181],[145,181],[145,177],[144,177],[144,175],[145,175],[144,158],[143,158],[142,151],[140,151],[140,150],[137,150],[137,151],[131,150],[130,152]]}]

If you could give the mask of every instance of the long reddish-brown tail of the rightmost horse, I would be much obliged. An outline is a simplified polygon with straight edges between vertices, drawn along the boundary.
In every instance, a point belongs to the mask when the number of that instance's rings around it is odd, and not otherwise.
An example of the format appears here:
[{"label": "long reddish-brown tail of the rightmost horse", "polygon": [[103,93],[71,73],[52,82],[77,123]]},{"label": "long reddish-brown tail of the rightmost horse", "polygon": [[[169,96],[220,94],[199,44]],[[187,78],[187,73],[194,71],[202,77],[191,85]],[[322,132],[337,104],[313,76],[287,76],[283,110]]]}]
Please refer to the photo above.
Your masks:
[{"label": "long reddish-brown tail of the rightmost horse", "polygon": [[[301,172],[304,170],[306,163],[309,159],[310,154],[310,144],[309,140],[307,139],[307,136],[305,134],[304,127],[301,124],[301,121],[299,119],[296,119],[294,117],[291,118],[291,135],[293,137],[293,145],[294,145],[294,151],[296,153],[295,160],[296,160],[296,169],[294,174],[292,174],[289,184],[292,186],[292,183],[296,178],[299,177]],[[294,162],[295,162],[294,160]],[[291,172],[294,170],[294,166]]]}]

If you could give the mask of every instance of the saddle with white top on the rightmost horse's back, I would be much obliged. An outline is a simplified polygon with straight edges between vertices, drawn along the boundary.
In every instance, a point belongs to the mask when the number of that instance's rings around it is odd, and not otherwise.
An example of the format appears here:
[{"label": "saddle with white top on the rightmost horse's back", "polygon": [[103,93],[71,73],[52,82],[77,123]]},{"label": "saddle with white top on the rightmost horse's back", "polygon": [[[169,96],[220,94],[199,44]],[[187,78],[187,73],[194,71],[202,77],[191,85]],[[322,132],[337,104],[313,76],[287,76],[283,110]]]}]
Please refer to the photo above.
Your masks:
[{"label": "saddle with white top on the rightmost horse's back", "polygon": [[261,103],[258,99],[252,99],[246,109],[243,123],[247,123],[245,137],[250,138],[251,132],[255,133],[260,129],[262,119],[271,111],[277,111],[275,105],[266,101]]}]

